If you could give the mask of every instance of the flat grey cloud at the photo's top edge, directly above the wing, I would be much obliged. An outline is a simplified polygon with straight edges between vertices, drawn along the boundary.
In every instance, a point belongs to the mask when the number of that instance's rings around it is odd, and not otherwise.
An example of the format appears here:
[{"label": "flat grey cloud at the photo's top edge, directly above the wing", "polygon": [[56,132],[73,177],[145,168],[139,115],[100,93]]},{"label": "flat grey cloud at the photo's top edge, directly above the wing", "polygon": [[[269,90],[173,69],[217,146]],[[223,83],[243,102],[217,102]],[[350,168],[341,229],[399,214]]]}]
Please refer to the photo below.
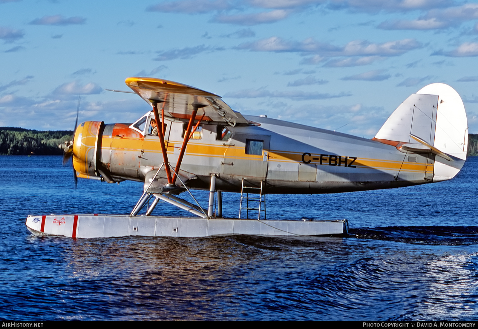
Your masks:
[{"label": "flat grey cloud at the photo's top edge, directly above the wing", "polygon": [[234,8],[228,0],[179,0],[164,1],[149,6],[146,11],[173,12],[182,14],[203,14],[211,11],[223,11]]}]

